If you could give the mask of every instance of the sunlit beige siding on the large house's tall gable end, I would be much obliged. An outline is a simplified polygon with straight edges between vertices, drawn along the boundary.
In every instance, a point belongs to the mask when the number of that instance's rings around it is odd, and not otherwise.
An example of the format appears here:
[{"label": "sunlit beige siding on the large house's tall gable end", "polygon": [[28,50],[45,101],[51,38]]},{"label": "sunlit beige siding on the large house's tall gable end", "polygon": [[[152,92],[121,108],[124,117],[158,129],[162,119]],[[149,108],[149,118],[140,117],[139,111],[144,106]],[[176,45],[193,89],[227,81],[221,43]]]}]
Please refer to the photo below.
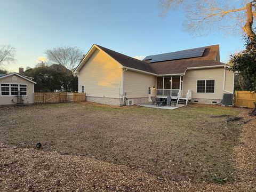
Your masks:
[{"label": "sunlit beige siding on the large house's tall gable end", "polygon": [[78,75],[78,88],[85,86],[88,97],[119,98],[122,69],[118,62],[105,52],[95,50]]}]

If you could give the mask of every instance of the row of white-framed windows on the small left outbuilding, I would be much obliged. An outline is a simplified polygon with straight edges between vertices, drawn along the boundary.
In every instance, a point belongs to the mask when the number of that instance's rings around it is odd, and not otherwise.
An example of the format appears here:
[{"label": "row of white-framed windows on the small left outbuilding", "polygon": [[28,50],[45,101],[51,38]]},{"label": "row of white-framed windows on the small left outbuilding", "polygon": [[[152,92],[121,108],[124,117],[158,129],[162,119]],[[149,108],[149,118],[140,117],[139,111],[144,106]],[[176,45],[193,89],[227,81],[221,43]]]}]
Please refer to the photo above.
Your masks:
[{"label": "row of white-framed windows on the small left outbuilding", "polygon": [[21,95],[27,95],[27,85],[26,84],[9,84],[1,83],[1,95],[5,96],[14,96],[18,95],[20,92]]}]

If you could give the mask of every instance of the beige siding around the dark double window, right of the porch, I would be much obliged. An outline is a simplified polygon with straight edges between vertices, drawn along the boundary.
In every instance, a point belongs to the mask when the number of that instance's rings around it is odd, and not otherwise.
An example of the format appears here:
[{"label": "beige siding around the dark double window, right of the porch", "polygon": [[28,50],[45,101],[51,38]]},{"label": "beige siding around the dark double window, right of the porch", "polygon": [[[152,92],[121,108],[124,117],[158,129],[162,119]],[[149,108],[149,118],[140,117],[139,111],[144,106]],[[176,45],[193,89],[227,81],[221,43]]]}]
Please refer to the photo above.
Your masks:
[{"label": "beige siding around the dark double window, right of the porch", "polygon": [[[231,92],[231,85],[233,78],[230,78],[230,74],[227,72],[227,91]],[[214,93],[197,93],[197,80],[215,80]],[[192,98],[197,99],[222,99],[222,94],[227,93],[223,91],[223,79],[224,79],[224,68],[208,68],[208,69],[192,69],[187,70],[183,77],[183,97],[186,97],[188,90],[192,90]]]}]

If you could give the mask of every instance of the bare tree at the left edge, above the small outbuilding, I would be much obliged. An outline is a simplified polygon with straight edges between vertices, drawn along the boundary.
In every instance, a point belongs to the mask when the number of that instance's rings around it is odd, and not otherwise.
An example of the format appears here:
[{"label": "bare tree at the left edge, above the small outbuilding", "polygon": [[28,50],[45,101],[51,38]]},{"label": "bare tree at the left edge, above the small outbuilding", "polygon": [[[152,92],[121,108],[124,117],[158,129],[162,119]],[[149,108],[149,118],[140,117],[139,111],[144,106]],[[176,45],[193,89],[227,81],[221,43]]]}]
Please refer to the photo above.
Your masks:
[{"label": "bare tree at the left edge, above the small outbuilding", "polygon": [[11,45],[0,45],[0,66],[4,62],[13,62],[15,56],[15,48]]}]

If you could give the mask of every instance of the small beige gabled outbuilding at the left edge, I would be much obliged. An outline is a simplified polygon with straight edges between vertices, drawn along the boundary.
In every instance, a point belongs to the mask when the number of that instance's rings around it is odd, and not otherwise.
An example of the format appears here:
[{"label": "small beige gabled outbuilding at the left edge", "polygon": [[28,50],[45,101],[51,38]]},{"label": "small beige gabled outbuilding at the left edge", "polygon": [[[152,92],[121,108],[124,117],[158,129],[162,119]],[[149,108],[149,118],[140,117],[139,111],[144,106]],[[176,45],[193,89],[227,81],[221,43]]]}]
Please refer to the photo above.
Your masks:
[{"label": "small beige gabled outbuilding at the left edge", "polygon": [[0,105],[34,103],[34,84],[36,82],[32,77],[19,73],[2,74],[0,76]]}]

